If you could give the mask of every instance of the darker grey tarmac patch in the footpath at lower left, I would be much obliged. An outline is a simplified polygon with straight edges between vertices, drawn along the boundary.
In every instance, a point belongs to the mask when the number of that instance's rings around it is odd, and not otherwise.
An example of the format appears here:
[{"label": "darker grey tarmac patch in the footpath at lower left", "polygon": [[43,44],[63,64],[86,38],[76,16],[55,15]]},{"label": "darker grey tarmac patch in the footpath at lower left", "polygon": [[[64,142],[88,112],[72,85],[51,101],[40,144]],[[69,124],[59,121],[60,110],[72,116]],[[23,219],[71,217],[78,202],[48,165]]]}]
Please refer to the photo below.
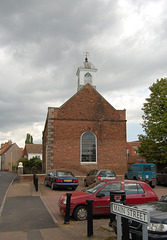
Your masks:
[{"label": "darker grey tarmac patch in the footpath at lower left", "polygon": [[6,199],[0,219],[0,232],[30,231],[55,227],[57,225],[39,196],[19,196]]}]

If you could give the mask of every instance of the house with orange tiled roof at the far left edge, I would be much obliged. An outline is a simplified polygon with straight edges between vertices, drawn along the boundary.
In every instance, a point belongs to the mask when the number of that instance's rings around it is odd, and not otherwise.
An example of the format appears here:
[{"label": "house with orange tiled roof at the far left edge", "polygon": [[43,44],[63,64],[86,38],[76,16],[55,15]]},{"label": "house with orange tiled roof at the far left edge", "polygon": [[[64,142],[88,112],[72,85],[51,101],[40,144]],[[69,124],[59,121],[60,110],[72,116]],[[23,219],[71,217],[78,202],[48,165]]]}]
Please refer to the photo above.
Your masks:
[{"label": "house with orange tiled roof at the far left edge", "polygon": [[1,144],[0,148],[0,171],[12,171],[18,164],[23,152],[16,143],[8,141]]}]

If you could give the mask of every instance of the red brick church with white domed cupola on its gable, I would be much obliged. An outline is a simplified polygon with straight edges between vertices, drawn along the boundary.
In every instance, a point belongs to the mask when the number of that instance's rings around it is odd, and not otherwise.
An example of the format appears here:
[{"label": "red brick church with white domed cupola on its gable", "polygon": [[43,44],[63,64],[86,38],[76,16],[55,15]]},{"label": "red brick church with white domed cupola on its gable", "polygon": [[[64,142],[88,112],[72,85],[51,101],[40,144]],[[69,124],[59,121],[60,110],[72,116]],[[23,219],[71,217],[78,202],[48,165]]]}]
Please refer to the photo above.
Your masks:
[{"label": "red brick church with white domed cupola on its gable", "polygon": [[95,86],[97,69],[85,58],[77,70],[78,89],[60,107],[49,107],[43,131],[43,171],[92,169],[127,171],[126,111],[116,110]]}]

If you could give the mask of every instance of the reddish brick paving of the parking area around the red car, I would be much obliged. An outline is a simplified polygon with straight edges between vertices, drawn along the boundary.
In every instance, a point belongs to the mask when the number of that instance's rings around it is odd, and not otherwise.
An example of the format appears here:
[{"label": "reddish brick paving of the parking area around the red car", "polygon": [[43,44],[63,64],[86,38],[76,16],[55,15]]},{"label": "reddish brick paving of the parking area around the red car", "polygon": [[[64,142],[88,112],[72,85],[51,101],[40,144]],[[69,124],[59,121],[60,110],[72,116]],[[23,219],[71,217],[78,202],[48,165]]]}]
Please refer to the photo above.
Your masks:
[{"label": "reddish brick paving of the parking area around the red car", "polygon": [[[84,187],[80,185],[76,191],[83,189]],[[74,231],[77,236],[82,236],[83,239],[87,236],[87,221],[77,222],[74,219],[70,219],[70,224],[64,225],[64,217],[59,213],[58,199],[59,197],[68,192],[67,190],[55,190],[52,191],[49,187],[45,187],[43,183],[40,183],[39,189],[41,195],[46,202],[46,205],[50,208],[50,211],[53,213],[56,218],[59,226],[61,226],[66,231]],[[159,199],[161,196],[167,194],[167,187],[156,186],[154,191],[158,195]],[[72,193],[72,191],[69,191]],[[109,227],[109,217],[106,218],[94,218],[93,220],[94,227],[94,236],[93,239],[116,239],[116,235],[113,232],[113,229]],[[90,238],[89,238],[90,239]]]}]

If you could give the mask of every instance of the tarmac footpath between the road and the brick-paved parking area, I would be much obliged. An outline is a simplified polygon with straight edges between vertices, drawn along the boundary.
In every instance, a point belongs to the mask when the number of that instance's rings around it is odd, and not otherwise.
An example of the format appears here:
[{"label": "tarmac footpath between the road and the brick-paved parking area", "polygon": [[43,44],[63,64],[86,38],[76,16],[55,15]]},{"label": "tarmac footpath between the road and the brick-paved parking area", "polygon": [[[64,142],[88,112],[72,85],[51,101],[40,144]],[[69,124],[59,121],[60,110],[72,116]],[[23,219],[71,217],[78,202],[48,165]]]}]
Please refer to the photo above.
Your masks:
[{"label": "tarmac footpath between the road and the brick-paved parking area", "polygon": [[[53,221],[40,194],[35,192],[31,183],[19,183],[15,178],[3,202],[0,239],[44,240],[49,236],[51,239],[53,232],[58,229],[58,224]],[[62,240],[63,233],[57,231],[61,234],[59,239]],[[43,234],[47,234],[47,238],[44,238]]]}]

